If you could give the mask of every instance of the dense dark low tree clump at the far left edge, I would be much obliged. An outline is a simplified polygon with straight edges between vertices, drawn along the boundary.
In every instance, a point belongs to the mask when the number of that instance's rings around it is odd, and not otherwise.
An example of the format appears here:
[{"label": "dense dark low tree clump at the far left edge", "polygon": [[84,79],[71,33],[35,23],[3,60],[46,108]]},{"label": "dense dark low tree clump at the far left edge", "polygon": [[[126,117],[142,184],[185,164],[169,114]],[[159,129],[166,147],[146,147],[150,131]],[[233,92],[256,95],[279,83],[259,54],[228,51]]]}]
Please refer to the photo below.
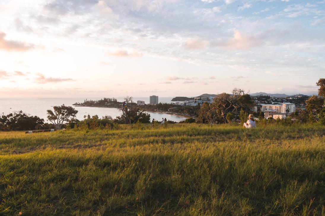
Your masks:
[{"label": "dense dark low tree clump at the far left edge", "polygon": [[0,130],[34,130],[43,127],[44,119],[38,116],[28,116],[22,111],[0,116]]}]

